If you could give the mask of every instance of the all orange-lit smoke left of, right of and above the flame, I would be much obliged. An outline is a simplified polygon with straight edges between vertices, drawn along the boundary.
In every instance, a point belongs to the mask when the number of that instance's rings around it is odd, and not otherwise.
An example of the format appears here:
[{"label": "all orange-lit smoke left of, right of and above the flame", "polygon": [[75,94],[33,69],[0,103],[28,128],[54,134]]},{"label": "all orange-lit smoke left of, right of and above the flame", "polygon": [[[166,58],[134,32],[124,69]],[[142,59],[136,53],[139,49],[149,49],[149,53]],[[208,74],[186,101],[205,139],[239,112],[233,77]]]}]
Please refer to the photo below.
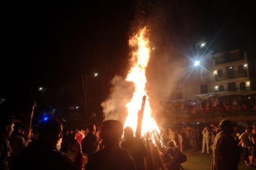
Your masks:
[{"label": "all orange-lit smoke left of, right of and above the flame", "polygon": [[[136,4],[134,22],[130,25],[129,34],[137,32],[138,28],[147,25],[150,28],[150,46],[152,47],[150,60],[146,70],[147,94],[153,117],[164,123],[164,104],[171,99],[177,99],[176,93],[181,89],[183,73],[186,71],[186,61],[182,56],[177,41],[179,38],[170,30],[172,25],[169,18],[172,15],[170,6],[164,1],[155,4],[139,0]],[[134,87],[121,76],[115,76],[111,81],[113,87],[109,98],[101,103],[106,119],[125,121],[127,116],[126,104],[132,99]]]}]

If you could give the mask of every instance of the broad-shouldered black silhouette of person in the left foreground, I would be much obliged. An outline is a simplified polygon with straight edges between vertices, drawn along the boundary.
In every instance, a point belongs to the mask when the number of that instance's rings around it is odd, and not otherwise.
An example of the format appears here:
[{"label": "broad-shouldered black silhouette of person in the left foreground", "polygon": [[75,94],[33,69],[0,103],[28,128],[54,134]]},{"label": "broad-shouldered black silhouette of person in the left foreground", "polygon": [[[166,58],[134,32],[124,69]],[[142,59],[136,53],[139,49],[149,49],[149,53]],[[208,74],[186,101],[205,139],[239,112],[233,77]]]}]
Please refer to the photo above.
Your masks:
[{"label": "broad-shouldered black silhouette of person in the left foreground", "polygon": [[56,145],[62,137],[62,124],[49,119],[38,127],[39,139],[25,148],[14,161],[14,169],[75,169],[72,161],[58,151]]}]

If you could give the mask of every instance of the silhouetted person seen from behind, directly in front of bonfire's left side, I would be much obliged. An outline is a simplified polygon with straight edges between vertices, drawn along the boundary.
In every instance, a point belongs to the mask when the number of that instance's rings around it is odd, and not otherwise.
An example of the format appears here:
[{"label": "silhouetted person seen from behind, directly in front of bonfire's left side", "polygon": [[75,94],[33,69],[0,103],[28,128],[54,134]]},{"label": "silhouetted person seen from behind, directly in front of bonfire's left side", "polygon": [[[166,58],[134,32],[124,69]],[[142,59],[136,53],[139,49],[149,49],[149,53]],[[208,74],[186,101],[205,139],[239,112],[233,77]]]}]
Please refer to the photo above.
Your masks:
[{"label": "silhouetted person seen from behind, directly in front of bonfire's left side", "polygon": [[103,123],[102,139],[105,148],[90,156],[87,170],[134,170],[134,160],[125,148],[119,147],[123,126],[120,121],[108,120]]}]

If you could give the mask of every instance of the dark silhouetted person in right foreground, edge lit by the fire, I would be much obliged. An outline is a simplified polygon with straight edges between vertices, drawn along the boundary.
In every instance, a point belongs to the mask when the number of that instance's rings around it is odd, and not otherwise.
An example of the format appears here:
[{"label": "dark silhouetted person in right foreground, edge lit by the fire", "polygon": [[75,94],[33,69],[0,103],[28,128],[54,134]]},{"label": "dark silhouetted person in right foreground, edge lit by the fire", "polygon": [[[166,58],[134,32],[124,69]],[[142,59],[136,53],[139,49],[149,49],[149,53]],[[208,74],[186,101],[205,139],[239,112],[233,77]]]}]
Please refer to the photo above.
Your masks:
[{"label": "dark silhouetted person in right foreground, edge lit by the fire", "polygon": [[220,122],[220,132],[213,143],[213,170],[236,170],[239,163],[239,151],[231,135],[234,132],[234,124],[230,120]]}]

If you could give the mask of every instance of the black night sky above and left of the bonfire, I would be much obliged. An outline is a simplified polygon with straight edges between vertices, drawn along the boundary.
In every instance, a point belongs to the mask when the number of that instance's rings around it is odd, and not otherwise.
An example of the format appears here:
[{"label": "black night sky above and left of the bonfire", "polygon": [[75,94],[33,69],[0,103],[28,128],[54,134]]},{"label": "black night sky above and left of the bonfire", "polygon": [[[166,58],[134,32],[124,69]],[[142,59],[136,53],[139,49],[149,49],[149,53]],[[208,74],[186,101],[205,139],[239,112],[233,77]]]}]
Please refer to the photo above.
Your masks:
[{"label": "black night sky above and left of the bonfire", "polygon": [[[6,99],[1,114],[28,111],[34,100],[42,109],[82,108],[82,75],[87,75],[88,112],[100,113],[113,76],[126,75],[128,39],[140,25],[150,27],[156,47],[172,44],[189,51],[198,41],[213,51],[255,47],[255,3],[244,1],[6,1],[1,6],[0,97]],[[45,92],[37,91],[40,86]]]}]

